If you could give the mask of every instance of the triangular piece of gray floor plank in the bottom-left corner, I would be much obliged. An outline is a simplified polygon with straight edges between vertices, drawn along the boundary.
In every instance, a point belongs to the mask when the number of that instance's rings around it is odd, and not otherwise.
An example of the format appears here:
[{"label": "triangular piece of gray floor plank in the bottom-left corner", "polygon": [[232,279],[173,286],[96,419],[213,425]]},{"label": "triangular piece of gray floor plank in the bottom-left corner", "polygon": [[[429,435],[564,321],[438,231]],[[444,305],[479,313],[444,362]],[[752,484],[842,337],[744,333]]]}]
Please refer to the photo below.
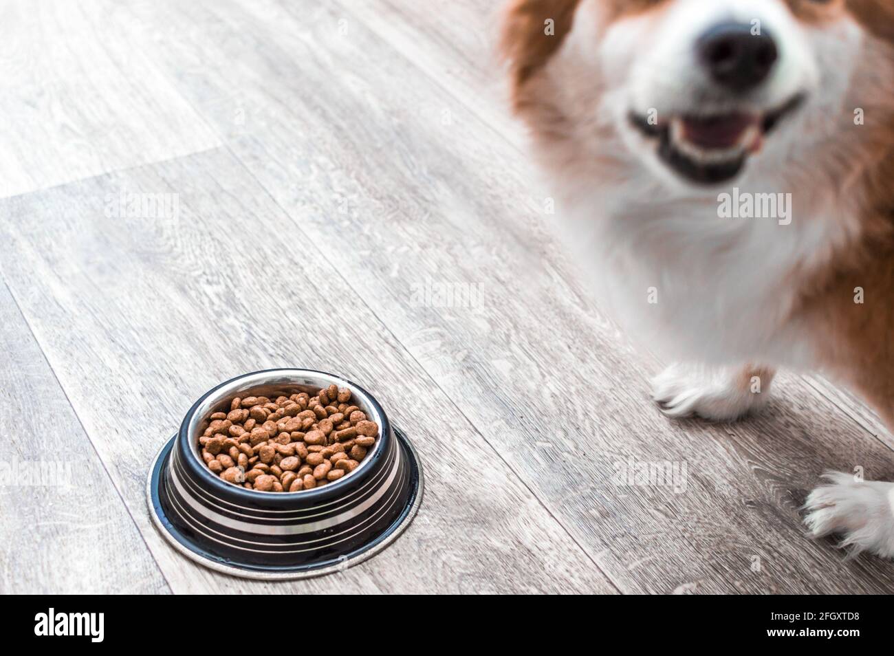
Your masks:
[{"label": "triangular piece of gray floor plank in the bottom-left corner", "polygon": [[0,282],[0,592],[169,593]]}]

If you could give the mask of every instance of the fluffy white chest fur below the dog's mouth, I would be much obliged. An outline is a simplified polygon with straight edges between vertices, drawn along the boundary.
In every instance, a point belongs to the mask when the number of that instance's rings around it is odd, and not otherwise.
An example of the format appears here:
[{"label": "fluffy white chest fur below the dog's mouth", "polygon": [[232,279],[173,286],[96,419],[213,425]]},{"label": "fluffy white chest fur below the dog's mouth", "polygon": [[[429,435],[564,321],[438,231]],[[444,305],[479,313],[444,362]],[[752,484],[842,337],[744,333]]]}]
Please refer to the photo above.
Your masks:
[{"label": "fluffy white chest fur below the dog's mouth", "polygon": [[[728,193],[746,214],[748,195],[773,187]],[[569,243],[609,313],[669,358],[809,366],[791,311],[805,276],[846,237],[843,210],[791,194],[780,198],[788,216],[726,218],[725,198],[662,200],[636,188],[564,198]]]}]

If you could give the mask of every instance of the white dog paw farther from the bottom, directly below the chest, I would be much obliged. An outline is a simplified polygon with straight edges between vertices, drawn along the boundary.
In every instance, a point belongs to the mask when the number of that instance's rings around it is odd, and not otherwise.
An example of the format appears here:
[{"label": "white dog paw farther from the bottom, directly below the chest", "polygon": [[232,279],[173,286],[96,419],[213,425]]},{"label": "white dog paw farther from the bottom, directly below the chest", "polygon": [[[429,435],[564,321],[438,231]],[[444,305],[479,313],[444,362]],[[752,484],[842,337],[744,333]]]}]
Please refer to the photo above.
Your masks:
[{"label": "white dog paw farther from the bottom, directly below the chest", "polygon": [[769,397],[769,389],[752,391],[742,369],[677,364],[652,379],[652,398],[672,417],[732,421],[763,407]]}]

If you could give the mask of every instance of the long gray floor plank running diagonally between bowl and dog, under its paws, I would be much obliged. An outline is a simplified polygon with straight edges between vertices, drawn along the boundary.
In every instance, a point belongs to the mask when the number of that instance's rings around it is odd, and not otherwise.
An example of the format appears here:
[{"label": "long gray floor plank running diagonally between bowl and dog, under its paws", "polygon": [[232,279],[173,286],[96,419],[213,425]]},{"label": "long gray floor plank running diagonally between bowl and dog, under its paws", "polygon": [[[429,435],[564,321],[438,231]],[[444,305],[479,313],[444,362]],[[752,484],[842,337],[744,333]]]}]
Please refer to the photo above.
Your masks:
[{"label": "long gray floor plank running diagonally between bowl and dog, under its paws", "polygon": [[[409,58],[316,4],[179,11],[215,38],[150,29],[164,70],[215,63],[181,92],[622,591],[894,590],[894,566],[809,542],[797,511],[827,467],[890,475],[890,450],[791,376],[754,420],[666,421],[657,363],[569,282],[525,161]],[[211,99],[237,89],[255,120],[233,133]],[[420,305],[426,282],[481,300]],[[630,459],[687,463],[686,490],[611,484]]]}]

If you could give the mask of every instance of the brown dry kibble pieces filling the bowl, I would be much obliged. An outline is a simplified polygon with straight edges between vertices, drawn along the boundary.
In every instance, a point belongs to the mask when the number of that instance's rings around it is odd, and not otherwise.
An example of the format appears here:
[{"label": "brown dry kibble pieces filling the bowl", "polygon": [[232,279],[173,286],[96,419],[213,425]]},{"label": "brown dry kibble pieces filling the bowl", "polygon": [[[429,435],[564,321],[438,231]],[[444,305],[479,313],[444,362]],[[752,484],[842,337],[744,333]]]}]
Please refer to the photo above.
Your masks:
[{"label": "brown dry kibble pieces filling the bowl", "polygon": [[262,492],[299,492],[350,475],[378,439],[379,426],[335,385],[316,396],[232,399],[198,438],[208,469]]}]

